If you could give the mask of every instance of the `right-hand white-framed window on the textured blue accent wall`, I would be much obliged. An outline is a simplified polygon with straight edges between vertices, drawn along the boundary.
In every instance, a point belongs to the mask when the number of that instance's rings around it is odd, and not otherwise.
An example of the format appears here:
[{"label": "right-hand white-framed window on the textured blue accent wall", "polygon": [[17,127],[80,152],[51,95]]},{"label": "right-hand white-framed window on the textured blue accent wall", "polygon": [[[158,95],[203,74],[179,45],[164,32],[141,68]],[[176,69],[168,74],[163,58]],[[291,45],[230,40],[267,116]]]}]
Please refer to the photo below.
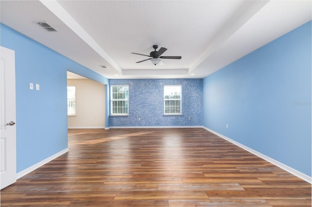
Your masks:
[{"label": "right-hand white-framed window on the textured blue accent wall", "polygon": [[165,115],[182,115],[181,85],[164,85]]}]

